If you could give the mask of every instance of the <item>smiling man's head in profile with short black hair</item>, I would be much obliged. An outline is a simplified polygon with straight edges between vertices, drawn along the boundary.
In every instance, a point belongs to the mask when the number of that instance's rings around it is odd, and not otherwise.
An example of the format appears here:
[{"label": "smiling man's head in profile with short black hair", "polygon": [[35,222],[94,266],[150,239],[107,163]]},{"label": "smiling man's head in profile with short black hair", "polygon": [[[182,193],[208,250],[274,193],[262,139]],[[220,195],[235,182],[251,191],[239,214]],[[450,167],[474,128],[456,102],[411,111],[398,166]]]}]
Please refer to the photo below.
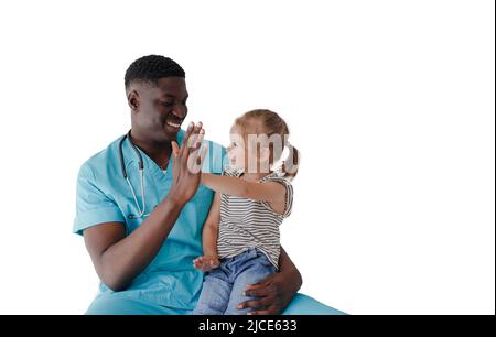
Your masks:
[{"label": "smiling man's head in profile with short black hair", "polygon": [[175,140],[187,115],[188,94],[181,66],[168,57],[144,56],[129,66],[125,84],[132,137],[151,143]]}]

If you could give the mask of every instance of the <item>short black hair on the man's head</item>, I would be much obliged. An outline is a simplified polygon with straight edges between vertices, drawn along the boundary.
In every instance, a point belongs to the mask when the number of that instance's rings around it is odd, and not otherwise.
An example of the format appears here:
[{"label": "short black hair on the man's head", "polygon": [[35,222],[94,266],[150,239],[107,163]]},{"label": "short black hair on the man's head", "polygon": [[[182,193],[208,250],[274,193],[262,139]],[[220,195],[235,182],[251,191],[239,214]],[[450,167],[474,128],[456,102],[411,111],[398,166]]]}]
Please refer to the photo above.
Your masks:
[{"label": "short black hair on the man's head", "polygon": [[185,77],[184,69],[172,58],[162,55],[148,55],[138,58],[126,70],[125,86],[137,81],[157,84],[162,77]]}]

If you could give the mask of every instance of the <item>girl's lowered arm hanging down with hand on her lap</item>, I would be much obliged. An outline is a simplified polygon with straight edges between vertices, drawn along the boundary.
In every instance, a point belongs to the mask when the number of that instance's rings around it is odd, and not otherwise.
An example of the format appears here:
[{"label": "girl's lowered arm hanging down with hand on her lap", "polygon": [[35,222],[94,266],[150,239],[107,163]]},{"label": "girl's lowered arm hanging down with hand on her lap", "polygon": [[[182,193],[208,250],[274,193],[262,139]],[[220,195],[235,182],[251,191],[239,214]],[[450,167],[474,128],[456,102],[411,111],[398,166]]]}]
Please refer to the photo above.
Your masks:
[{"label": "girl's lowered arm hanging down with hand on her lap", "polygon": [[202,271],[217,268],[220,263],[217,253],[218,226],[220,222],[220,194],[216,193],[211,211],[203,226],[203,257],[193,260],[193,265]]}]

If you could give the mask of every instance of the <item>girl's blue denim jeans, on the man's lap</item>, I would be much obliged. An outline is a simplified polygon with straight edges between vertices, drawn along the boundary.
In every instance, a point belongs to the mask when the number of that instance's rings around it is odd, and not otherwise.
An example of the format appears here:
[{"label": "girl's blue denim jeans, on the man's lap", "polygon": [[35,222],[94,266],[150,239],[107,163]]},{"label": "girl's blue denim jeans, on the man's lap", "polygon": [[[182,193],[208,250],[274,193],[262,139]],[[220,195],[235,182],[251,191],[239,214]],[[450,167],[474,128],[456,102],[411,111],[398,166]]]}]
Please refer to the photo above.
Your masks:
[{"label": "girl's blue denim jeans, on the man's lap", "polygon": [[205,274],[203,289],[193,315],[246,315],[249,308],[238,304],[255,300],[244,295],[246,286],[274,273],[276,267],[255,248],[223,259],[220,265]]}]

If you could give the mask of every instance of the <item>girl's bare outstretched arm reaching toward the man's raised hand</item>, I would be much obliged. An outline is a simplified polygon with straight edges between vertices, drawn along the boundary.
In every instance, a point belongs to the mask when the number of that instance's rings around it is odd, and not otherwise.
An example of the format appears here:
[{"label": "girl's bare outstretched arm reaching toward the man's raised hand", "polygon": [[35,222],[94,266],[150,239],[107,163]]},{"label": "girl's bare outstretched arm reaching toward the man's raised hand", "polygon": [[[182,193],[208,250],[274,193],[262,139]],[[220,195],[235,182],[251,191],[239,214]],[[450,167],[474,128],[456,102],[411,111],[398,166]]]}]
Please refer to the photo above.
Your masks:
[{"label": "girl's bare outstretched arm reaching toward the man's raised hand", "polygon": [[284,205],[285,187],[276,182],[255,183],[234,176],[202,173],[202,184],[220,194]]}]

